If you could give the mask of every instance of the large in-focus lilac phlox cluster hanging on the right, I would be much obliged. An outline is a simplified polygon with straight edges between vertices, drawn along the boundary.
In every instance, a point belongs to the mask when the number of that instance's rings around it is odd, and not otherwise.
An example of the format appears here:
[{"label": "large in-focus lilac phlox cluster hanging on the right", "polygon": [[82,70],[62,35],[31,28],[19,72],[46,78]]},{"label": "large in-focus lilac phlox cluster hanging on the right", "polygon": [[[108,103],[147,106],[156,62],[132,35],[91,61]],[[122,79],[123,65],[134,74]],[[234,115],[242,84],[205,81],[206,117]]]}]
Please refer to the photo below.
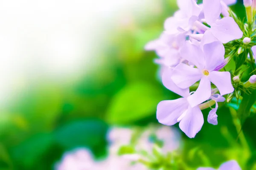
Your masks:
[{"label": "large in-focus lilac phlox cluster hanging on the right", "polygon": [[[236,0],[177,0],[179,10],[166,19],[160,38],[149,42],[146,50],[160,57],[163,85],[181,96],[157,105],[157,119],[164,125],[179,122],[180,129],[194,138],[204,124],[201,109],[215,104],[207,121],[217,125],[217,102],[234,91],[231,75],[221,69],[224,43],[243,37],[239,25],[230,17],[229,5]],[[199,83],[199,85],[198,85]],[[195,91],[189,88],[198,85]]]}]

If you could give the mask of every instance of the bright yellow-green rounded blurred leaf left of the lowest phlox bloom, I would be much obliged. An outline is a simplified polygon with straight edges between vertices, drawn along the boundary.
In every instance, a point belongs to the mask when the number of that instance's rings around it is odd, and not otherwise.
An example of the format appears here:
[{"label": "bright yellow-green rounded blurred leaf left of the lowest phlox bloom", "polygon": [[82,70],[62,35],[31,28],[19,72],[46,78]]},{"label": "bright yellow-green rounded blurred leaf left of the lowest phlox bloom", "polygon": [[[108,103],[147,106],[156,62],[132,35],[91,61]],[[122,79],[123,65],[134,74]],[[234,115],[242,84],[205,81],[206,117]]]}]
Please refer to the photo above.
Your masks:
[{"label": "bright yellow-green rounded blurred leaf left of the lowest phlox bloom", "polygon": [[141,82],[126,85],[108,108],[107,120],[113,124],[127,124],[155,114],[162,95],[154,86]]}]

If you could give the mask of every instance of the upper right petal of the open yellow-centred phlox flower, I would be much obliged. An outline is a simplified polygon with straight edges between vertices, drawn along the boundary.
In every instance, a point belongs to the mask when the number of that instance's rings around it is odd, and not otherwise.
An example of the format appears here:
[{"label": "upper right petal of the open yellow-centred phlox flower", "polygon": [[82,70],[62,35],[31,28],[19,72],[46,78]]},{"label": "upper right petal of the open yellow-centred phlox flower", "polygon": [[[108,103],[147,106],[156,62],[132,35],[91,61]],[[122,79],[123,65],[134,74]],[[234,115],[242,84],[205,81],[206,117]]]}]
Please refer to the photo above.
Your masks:
[{"label": "upper right petal of the open yellow-centred phlox flower", "polygon": [[220,41],[204,45],[205,68],[208,71],[214,70],[224,61],[225,48]]}]

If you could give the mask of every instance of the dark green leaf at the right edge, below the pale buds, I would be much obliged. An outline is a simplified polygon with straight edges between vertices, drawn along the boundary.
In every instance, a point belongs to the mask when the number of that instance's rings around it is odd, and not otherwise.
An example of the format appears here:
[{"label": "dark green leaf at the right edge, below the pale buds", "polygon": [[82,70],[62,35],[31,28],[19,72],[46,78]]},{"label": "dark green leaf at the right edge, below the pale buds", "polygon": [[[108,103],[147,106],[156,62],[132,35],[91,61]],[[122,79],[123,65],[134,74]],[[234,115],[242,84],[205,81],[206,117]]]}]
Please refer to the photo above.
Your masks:
[{"label": "dark green leaf at the right edge, below the pale buds", "polygon": [[245,119],[250,116],[251,108],[256,101],[256,90],[252,91],[252,93],[248,93],[243,95],[243,99],[238,109],[238,116],[241,120],[242,124],[244,123]]}]

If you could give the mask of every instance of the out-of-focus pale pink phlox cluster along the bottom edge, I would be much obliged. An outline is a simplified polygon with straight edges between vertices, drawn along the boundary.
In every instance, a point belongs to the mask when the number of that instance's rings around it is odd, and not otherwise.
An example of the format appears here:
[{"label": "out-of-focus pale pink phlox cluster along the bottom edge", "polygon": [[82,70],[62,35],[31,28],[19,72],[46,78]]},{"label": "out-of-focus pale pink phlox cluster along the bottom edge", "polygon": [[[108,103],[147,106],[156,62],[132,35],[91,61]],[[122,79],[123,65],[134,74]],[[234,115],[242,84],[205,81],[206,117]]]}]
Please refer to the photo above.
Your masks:
[{"label": "out-of-focus pale pink phlox cluster along the bottom edge", "polygon": [[[155,140],[161,142],[163,152],[172,152],[180,147],[180,134],[175,128],[169,127],[149,127],[143,130],[141,135],[135,140],[135,130],[125,127],[113,127],[108,132],[108,157],[103,160],[96,160],[87,148],[77,148],[64,153],[61,161],[56,164],[56,170],[148,170],[144,164],[138,163],[140,159],[148,159],[140,155],[141,151],[152,153]],[[131,148],[134,152],[122,153],[122,147]],[[131,150],[129,150],[130,152]]]}]

